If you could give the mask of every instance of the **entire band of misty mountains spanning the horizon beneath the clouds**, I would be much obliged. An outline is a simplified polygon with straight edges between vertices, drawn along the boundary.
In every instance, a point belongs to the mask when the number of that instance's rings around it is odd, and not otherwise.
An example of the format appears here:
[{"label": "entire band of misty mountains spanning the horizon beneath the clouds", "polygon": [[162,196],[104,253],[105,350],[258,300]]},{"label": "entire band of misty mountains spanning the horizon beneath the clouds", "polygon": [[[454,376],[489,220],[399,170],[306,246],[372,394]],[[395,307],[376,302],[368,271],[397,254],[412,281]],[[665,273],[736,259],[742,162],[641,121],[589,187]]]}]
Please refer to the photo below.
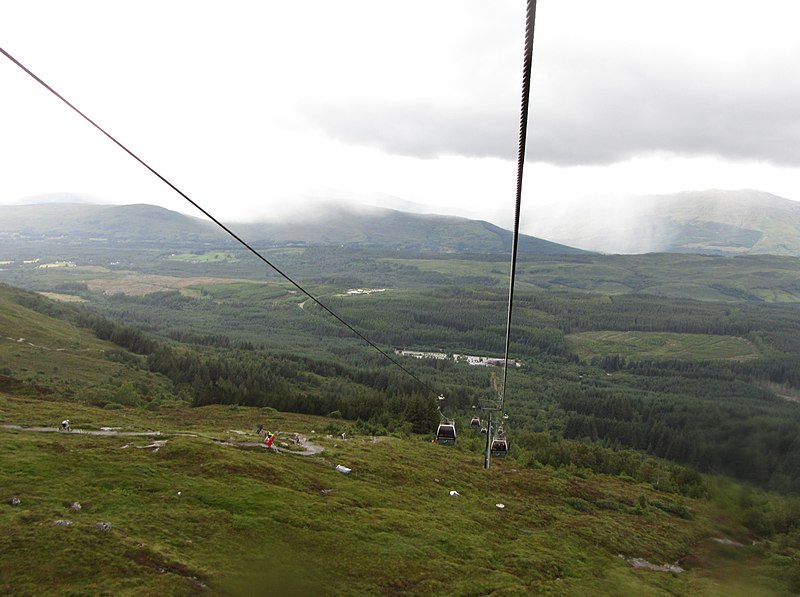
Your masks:
[{"label": "entire band of misty mountains spanning the horizon beneath the clouds", "polygon": [[[225,247],[235,241],[205,219],[147,204],[101,205],[70,195],[0,206],[0,243]],[[530,255],[698,253],[800,256],[800,202],[754,190],[627,197],[537,213]],[[430,253],[508,253],[511,232],[482,220],[328,204],[302,217],[227,224],[260,247],[340,246]],[[548,240],[543,240],[548,239]],[[197,245],[197,247],[195,247]]]}]

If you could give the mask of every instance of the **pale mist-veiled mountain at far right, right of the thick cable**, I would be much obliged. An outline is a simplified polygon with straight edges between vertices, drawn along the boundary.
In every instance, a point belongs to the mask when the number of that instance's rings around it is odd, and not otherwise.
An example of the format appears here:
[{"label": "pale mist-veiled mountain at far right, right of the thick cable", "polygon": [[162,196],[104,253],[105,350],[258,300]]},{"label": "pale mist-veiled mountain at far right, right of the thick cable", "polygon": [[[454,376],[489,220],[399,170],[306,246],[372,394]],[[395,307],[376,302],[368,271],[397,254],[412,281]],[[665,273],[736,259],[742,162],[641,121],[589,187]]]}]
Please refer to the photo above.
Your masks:
[{"label": "pale mist-veiled mountain at far right, right of the thick cable", "polygon": [[800,256],[800,202],[755,190],[628,197],[544,210],[538,236],[601,253]]}]

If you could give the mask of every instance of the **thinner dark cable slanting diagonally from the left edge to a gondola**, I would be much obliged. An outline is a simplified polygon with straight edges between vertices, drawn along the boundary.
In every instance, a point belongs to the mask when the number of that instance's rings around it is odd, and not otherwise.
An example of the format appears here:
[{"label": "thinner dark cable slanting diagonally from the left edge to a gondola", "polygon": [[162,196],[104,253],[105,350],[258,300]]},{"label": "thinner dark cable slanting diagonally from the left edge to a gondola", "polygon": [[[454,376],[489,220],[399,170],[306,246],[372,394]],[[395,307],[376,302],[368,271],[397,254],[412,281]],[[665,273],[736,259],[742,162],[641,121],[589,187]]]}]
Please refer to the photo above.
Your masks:
[{"label": "thinner dark cable slanting diagonally from the left edge to a gondola", "polygon": [[263,262],[264,262],[266,265],[268,265],[270,268],[272,268],[272,269],[273,269],[275,272],[277,272],[277,273],[278,273],[278,274],[279,274],[281,277],[283,277],[283,278],[284,278],[285,280],[287,280],[287,281],[288,281],[290,284],[292,284],[292,286],[294,286],[295,288],[297,288],[297,289],[298,289],[300,292],[302,292],[304,295],[306,295],[308,298],[310,298],[312,301],[314,301],[314,302],[315,302],[317,305],[319,305],[319,307],[321,307],[321,308],[322,308],[324,311],[326,311],[326,312],[327,312],[329,315],[331,315],[331,316],[332,316],[334,319],[336,319],[336,320],[337,320],[339,323],[341,323],[342,325],[344,325],[344,326],[345,326],[347,329],[349,329],[351,332],[353,332],[353,333],[354,333],[356,336],[358,336],[359,338],[361,338],[361,339],[362,339],[364,342],[366,342],[366,343],[367,343],[369,346],[371,346],[372,348],[374,348],[375,350],[377,350],[377,351],[378,351],[378,352],[379,352],[381,355],[383,355],[383,356],[384,356],[386,359],[388,359],[388,360],[389,360],[390,362],[392,362],[394,365],[396,365],[397,367],[399,367],[399,368],[400,368],[400,369],[401,369],[403,372],[405,372],[407,375],[409,375],[410,377],[412,377],[412,378],[413,378],[413,379],[414,379],[414,380],[415,380],[417,383],[419,383],[421,386],[423,386],[424,388],[426,388],[426,389],[427,389],[429,392],[431,392],[433,395],[437,395],[437,392],[435,392],[435,391],[433,390],[433,388],[431,388],[431,387],[430,387],[430,386],[429,386],[427,383],[425,383],[425,382],[424,382],[424,381],[422,381],[422,380],[421,380],[419,377],[417,377],[416,375],[414,375],[414,374],[413,374],[411,371],[409,371],[409,370],[408,370],[406,367],[404,367],[404,366],[403,366],[403,365],[402,365],[400,362],[398,362],[398,361],[397,361],[397,359],[394,359],[394,358],[392,358],[392,356],[391,356],[391,355],[389,355],[389,353],[387,353],[385,350],[383,350],[381,347],[379,347],[377,344],[375,344],[375,343],[374,343],[372,340],[370,340],[369,338],[367,338],[366,336],[364,336],[364,334],[362,334],[362,333],[361,333],[361,332],[359,332],[357,329],[355,329],[355,328],[354,328],[352,325],[350,325],[349,323],[347,323],[347,322],[346,322],[344,319],[342,319],[342,318],[341,318],[339,315],[337,315],[337,314],[336,314],[334,311],[332,311],[331,309],[329,309],[329,308],[328,308],[326,305],[324,305],[323,303],[321,303],[321,302],[320,302],[320,301],[319,301],[319,300],[318,300],[318,299],[317,299],[317,298],[316,298],[314,295],[312,295],[312,294],[311,294],[309,291],[307,291],[305,288],[303,288],[302,286],[300,286],[300,285],[299,285],[297,282],[295,282],[294,280],[292,280],[292,278],[290,278],[290,277],[289,277],[287,274],[285,274],[283,271],[281,271],[281,270],[280,270],[280,269],[279,269],[279,268],[278,268],[278,267],[277,267],[275,264],[273,264],[272,262],[270,262],[270,261],[269,261],[269,260],[268,260],[266,257],[264,257],[264,256],[263,256],[261,253],[259,253],[259,252],[258,252],[256,249],[254,249],[253,247],[251,247],[251,246],[250,246],[250,245],[249,245],[247,242],[245,242],[243,239],[241,239],[241,238],[240,238],[240,237],[239,237],[237,234],[235,234],[235,233],[234,233],[232,230],[230,230],[230,229],[229,229],[227,226],[225,226],[225,224],[223,224],[222,222],[220,222],[219,220],[217,220],[217,219],[216,219],[214,216],[212,216],[212,215],[211,215],[209,212],[207,212],[205,209],[203,209],[203,208],[202,208],[202,207],[201,207],[201,206],[200,206],[198,203],[196,203],[194,200],[192,200],[192,199],[191,199],[191,198],[190,198],[188,195],[186,195],[186,194],[185,194],[183,191],[181,191],[181,190],[180,190],[178,187],[176,187],[176,186],[175,186],[174,184],[172,184],[172,183],[171,183],[169,180],[167,180],[166,178],[164,178],[164,177],[163,177],[161,174],[159,174],[159,173],[158,173],[156,170],[154,170],[153,168],[151,168],[151,167],[150,167],[150,165],[149,165],[149,164],[147,164],[147,163],[146,163],[144,160],[142,160],[142,159],[141,159],[141,158],[140,158],[138,155],[136,155],[135,153],[133,153],[133,152],[132,152],[130,149],[128,149],[128,148],[127,148],[125,145],[123,145],[121,142],[119,142],[119,141],[118,141],[116,138],[114,138],[114,137],[113,137],[111,134],[109,134],[109,133],[108,133],[108,132],[107,132],[107,131],[106,131],[106,130],[103,128],[103,127],[101,127],[99,124],[97,124],[97,123],[96,123],[94,120],[92,120],[92,119],[91,119],[91,118],[89,118],[89,117],[88,117],[86,114],[84,114],[83,112],[81,112],[81,111],[80,111],[78,108],[76,108],[76,107],[75,107],[75,106],[74,106],[72,103],[70,103],[70,102],[69,102],[69,101],[68,101],[68,100],[67,100],[67,99],[66,99],[64,96],[62,96],[62,95],[61,95],[60,93],[58,93],[58,92],[57,92],[55,89],[53,89],[52,87],[50,87],[50,85],[48,85],[47,83],[45,83],[45,82],[44,82],[44,81],[43,81],[41,78],[39,78],[39,77],[38,77],[38,76],[37,76],[35,73],[33,73],[33,72],[30,70],[30,69],[28,69],[28,68],[27,68],[27,67],[26,67],[24,64],[22,64],[22,63],[21,63],[19,60],[17,60],[17,59],[16,59],[16,58],[14,58],[14,57],[13,57],[11,54],[9,54],[8,52],[6,52],[6,51],[5,51],[5,50],[4,50],[2,47],[0,47],[0,53],[2,53],[2,54],[3,54],[3,55],[6,57],[6,58],[8,58],[8,59],[9,59],[11,62],[13,62],[14,64],[16,64],[16,65],[17,65],[19,68],[21,68],[23,71],[25,71],[25,73],[27,73],[27,74],[28,74],[28,75],[29,75],[29,76],[30,76],[32,79],[34,79],[34,80],[35,80],[37,83],[39,83],[39,84],[40,84],[42,87],[44,87],[45,89],[47,89],[47,90],[48,90],[50,93],[52,93],[53,95],[55,95],[55,96],[56,96],[58,99],[60,99],[60,100],[61,100],[63,103],[65,103],[67,106],[69,106],[69,107],[70,107],[70,108],[71,108],[71,109],[72,109],[74,112],[76,112],[76,113],[77,113],[77,114],[78,114],[78,115],[79,115],[81,118],[83,118],[83,119],[84,119],[86,122],[88,122],[89,124],[91,124],[91,125],[92,125],[94,128],[96,128],[98,131],[100,131],[101,133],[103,133],[103,135],[105,135],[106,137],[108,137],[108,138],[109,138],[109,139],[110,139],[110,140],[111,140],[111,141],[112,141],[112,142],[113,142],[115,145],[117,145],[117,146],[118,146],[120,149],[122,149],[122,150],[123,150],[125,153],[127,153],[129,156],[131,156],[131,157],[132,157],[134,160],[136,160],[137,162],[139,162],[139,163],[140,163],[142,166],[144,166],[145,168],[147,168],[147,169],[148,169],[148,170],[149,170],[149,171],[150,171],[150,172],[151,172],[153,175],[155,175],[155,176],[156,176],[156,177],[157,177],[159,180],[161,180],[161,182],[163,182],[164,184],[166,184],[166,185],[167,185],[168,187],[170,187],[170,188],[171,188],[173,191],[175,191],[176,193],[178,193],[178,195],[180,195],[180,196],[181,196],[181,197],[183,197],[183,198],[184,198],[186,201],[188,201],[189,203],[191,203],[191,204],[192,204],[192,205],[193,205],[193,206],[194,206],[196,209],[198,209],[198,210],[199,210],[201,213],[203,213],[203,215],[205,215],[205,216],[206,216],[206,217],[207,217],[209,220],[211,220],[212,222],[214,222],[214,224],[216,224],[217,226],[219,226],[219,227],[220,227],[222,230],[224,230],[224,231],[225,231],[225,232],[226,232],[226,233],[227,233],[229,236],[233,237],[233,238],[234,238],[234,239],[235,239],[235,240],[236,240],[236,241],[237,241],[239,244],[241,244],[243,247],[245,247],[245,248],[246,248],[248,251],[250,251],[250,252],[251,252],[253,255],[255,255],[255,256],[258,258],[258,259],[260,259],[261,261],[263,261]]}]

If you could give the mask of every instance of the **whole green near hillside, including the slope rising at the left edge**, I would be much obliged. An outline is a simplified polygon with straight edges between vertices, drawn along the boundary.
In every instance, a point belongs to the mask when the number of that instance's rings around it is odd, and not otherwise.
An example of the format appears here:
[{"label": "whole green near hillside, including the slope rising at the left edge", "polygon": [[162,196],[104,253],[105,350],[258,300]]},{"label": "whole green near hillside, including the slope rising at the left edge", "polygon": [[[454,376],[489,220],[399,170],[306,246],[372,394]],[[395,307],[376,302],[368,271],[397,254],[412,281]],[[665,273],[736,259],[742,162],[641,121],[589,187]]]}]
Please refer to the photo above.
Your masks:
[{"label": "whole green near hillside, including the slope rising at the left edge", "polygon": [[[451,449],[430,434],[401,429],[375,438],[374,423],[271,408],[163,400],[135,408],[108,397],[100,408],[92,405],[98,392],[138,391],[161,378],[150,379],[135,360],[107,361],[110,345],[87,330],[79,348],[68,324],[2,290],[11,336],[28,334],[53,359],[72,360],[58,361],[59,379],[42,369],[44,377],[26,381],[17,377],[23,369],[44,365],[33,365],[35,350],[20,352],[3,378],[0,593],[781,595],[800,588],[800,507],[792,499],[521,429],[511,435],[510,457],[486,471],[477,431],[463,430]],[[238,291],[252,289],[233,296]],[[312,377],[304,378],[307,388]],[[54,430],[65,417],[76,431]],[[323,451],[243,445],[257,440],[258,424],[278,433],[279,446],[291,448],[301,434]],[[160,436],[88,433],[103,427]],[[70,509],[74,502],[80,510]],[[685,571],[637,569],[620,556]]]}]

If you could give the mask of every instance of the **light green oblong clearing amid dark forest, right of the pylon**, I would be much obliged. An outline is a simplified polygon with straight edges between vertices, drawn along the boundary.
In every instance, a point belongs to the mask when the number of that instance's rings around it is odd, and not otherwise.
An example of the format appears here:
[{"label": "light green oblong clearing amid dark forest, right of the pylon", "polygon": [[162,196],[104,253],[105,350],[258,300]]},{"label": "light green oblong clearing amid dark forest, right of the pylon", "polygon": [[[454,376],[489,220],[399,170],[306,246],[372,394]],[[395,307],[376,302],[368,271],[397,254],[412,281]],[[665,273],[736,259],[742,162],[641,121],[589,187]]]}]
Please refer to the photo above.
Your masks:
[{"label": "light green oblong clearing amid dark forest, right of the pylon", "polygon": [[584,359],[621,355],[632,359],[751,359],[758,349],[745,338],[669,332],[582,332],[566,338]]}]

